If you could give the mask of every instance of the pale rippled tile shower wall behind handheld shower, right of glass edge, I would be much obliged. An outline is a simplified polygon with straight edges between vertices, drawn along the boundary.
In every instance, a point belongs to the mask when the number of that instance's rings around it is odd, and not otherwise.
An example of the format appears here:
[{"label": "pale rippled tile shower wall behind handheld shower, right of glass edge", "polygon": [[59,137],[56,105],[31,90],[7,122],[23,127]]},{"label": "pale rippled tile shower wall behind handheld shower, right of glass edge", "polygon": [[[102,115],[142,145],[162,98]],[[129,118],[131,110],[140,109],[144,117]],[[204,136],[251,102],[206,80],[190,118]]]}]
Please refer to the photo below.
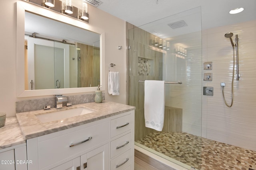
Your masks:
[{"label": "pale rippled tile shower wall behind handheld shower, right of glass edge", "polygon": [[[234,103],[227,107],[222,99],[220,83],[225,82],[224,94],[231,101],[233,53],[225,33],[238,34],[240,80],[234,80]],[[236,25],[207,29],[202,32],[203,62],[212,61],[213,80],[203,86],[214,87],[214,96],[202,97],[202,137],[256,150],[256,20]],[[235,41],[234,41],[235,42]],[[236,67],[235,67],[236,73]]]}]

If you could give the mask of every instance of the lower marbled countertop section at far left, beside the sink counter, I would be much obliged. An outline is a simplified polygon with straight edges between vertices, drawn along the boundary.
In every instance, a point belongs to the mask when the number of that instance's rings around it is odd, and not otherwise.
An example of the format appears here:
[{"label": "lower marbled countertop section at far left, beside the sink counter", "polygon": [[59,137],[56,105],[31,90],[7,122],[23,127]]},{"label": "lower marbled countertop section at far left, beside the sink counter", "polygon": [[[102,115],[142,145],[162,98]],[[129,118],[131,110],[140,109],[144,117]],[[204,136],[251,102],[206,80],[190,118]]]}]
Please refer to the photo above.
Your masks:
[{"label": "lower marbled countertop section at far left, beside the sink counter", "polygon": [[4,127],[0,128],[0,149],[26,143],[16,117],[7,117]]}]

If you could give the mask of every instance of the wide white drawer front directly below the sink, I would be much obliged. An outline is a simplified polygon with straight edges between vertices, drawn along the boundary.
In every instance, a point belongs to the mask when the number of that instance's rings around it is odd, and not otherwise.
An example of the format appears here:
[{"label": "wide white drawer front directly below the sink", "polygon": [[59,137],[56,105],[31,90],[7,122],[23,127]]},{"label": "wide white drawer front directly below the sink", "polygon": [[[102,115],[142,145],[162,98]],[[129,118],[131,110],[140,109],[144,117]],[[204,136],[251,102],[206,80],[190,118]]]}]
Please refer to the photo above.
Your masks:
[{"label": "wide white drawer front directly below the sink", "polygon": [[38,142],[39,168],[44,168],[103,143],[110,139],[109,134],[109,122],[107,121],[40,141]]}]

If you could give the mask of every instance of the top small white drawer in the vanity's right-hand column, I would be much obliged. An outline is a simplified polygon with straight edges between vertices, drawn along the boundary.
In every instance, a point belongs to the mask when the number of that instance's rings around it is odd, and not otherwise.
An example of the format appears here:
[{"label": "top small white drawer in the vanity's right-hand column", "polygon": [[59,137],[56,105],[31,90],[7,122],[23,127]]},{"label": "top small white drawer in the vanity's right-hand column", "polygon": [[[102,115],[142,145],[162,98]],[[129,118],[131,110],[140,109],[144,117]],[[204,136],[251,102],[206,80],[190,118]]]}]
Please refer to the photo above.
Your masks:
[{"label": "top small white drawer in the vanity's right-hand column", "polygon": [[111,137],[115,137],[131,129],[132,115],[125,115],[111,120]]}]

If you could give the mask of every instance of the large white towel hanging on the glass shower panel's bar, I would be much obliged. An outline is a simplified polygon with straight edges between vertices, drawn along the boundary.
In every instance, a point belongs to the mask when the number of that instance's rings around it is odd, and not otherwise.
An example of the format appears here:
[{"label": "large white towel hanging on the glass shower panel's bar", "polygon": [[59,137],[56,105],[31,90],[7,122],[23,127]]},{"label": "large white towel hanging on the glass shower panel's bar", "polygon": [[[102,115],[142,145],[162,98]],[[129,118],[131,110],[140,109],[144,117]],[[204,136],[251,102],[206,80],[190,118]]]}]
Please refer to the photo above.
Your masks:
[{"label": "large white towel hanging on the glass shower panel's bar", "polygon": [[145,80],[145,126],[162,131],[164,126],[164,81]]}]

